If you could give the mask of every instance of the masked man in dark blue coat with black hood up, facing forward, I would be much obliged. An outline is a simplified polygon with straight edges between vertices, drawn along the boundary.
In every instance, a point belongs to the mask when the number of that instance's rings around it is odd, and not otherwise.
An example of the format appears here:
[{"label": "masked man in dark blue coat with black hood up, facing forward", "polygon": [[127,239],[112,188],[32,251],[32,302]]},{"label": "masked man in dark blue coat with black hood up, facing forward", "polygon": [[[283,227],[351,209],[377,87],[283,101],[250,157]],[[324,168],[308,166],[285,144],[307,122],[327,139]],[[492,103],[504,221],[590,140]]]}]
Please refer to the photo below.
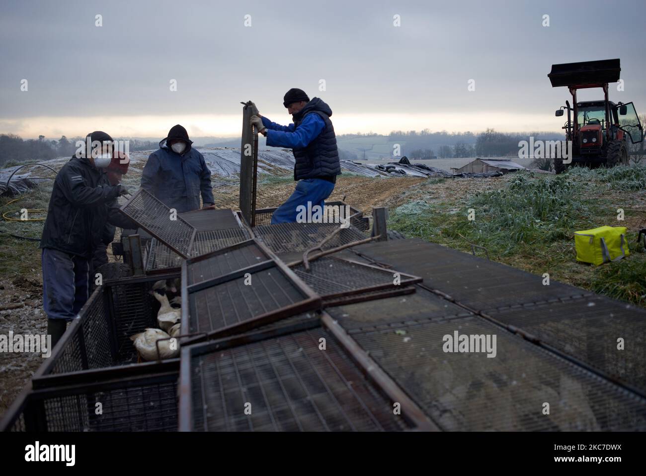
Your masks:
[{"label": "masked man in dark blue coat with black hood up, facing forward", "polygon": [[157,197],[178,213],[198,210],[200,193],[202,208],[213,208],[211,171],[204,156],[191,147],[193,141],[181,125],[174,125],[160,149],[148,158],[141,173],[141,188]]}]

